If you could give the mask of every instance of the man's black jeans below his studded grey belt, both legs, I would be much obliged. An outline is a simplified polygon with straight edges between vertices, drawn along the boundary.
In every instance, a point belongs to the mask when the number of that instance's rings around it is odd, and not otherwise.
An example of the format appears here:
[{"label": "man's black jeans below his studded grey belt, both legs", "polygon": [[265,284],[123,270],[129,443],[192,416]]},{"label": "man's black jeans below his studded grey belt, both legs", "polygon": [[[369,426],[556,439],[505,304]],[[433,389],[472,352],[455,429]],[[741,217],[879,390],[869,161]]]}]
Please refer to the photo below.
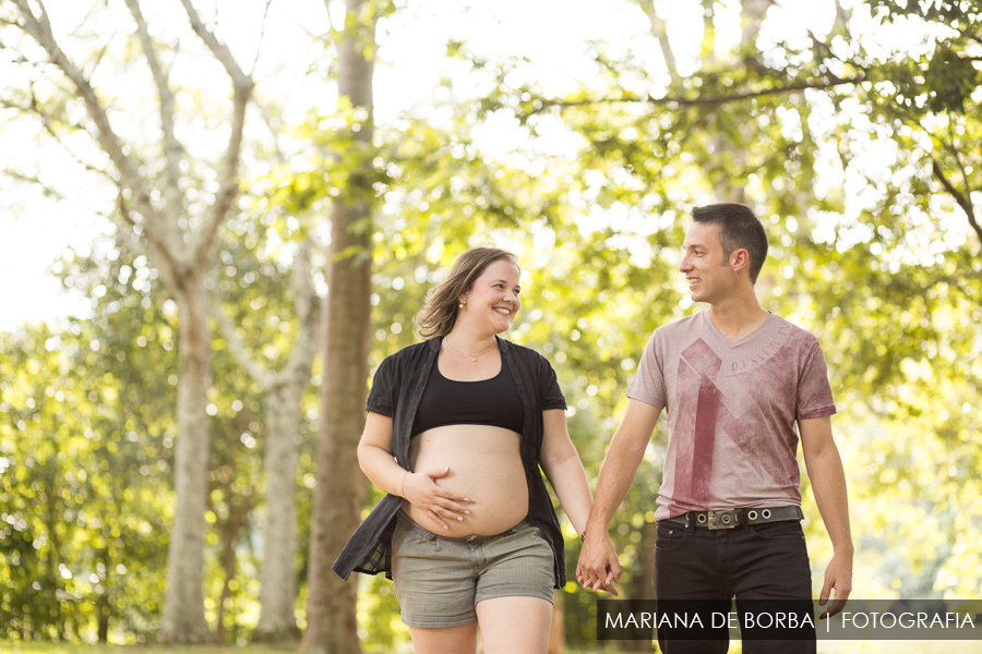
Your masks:
[{"label": "man's black jeans below his studded grey belt, both legs", "polygon": [[[655,542],[655,597],[705,601],[707,608],[728,613],[741,601],[812,600],[812,573],[801,522],[786,520],[734,529],[708,530],[660,522]],[[800,604],[798,606],[801,606]],[[743,625],[743,616],[740,616]],[[658,629],[666,654],[724,654],[729,634],[718,640],[673,640]],[[745,637],[746,634],[744,634]],[[814,654],[814,640],[746,640],[744,654]]]}]

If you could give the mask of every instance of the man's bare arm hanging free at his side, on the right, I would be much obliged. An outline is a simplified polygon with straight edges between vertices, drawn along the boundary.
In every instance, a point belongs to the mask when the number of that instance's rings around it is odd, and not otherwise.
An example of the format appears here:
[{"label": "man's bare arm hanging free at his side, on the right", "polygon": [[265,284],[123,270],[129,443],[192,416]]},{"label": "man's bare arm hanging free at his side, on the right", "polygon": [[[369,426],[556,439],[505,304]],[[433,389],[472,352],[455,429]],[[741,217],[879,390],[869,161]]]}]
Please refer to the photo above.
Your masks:
[{"label": "man's bare arm hanging free at his side, on the right", "polygon": [[801,449],[812,481],[815,504],[833,543],[833,558],[825,569],[818,604],[825,606],[835,589],[835,602],[822,614],[831,617],[842,610],[852,591],[852,534],[849,530],[849,500],[842,459],[831,434],[829,416],[799,421]]}]

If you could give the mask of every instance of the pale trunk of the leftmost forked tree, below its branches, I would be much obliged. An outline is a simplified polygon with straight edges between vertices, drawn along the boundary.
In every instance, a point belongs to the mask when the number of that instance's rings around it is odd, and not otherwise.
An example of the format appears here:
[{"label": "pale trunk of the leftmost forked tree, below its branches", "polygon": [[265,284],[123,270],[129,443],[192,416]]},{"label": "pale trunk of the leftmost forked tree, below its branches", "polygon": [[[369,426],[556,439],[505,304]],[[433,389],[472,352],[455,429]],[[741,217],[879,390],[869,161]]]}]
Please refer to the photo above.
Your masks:
[{"label": "pale trunk of the leftmost forked tree, below its branches", "polygon": [[207,397],[212,386],[207,303],[201,275],[189,276],[177,293],[178,437],[175,444],[173,525],[167,552],[167,594],[160,640],[209,640],[204,617],[204,512],[208,493]]}]

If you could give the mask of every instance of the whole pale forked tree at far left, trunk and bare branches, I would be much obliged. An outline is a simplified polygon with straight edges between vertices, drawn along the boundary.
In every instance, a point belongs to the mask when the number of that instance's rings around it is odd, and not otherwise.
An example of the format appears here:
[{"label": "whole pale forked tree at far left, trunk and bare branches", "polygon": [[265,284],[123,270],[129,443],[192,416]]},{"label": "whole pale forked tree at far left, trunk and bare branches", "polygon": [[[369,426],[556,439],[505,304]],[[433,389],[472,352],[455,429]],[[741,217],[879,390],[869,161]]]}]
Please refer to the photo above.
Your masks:
[{"label": "whole pale forked tree at far left, trunk and bare branches", "polygon": [[[136,23],[136,37],[143,48],[147,68],[158,92],[160,106],[161,152],[166,175],[156,182],[163,203],[151,201],[154,181],[141,175],[129,148],[113,131],[109,111],[93,87],[83,68],[76,65],[57,43],[43,0],[13,0],[20,12],[17,25],[44,48],[48,62],[68,77],[74,93],[85,104],[93,122],[89,134],[106,152],[115,167],[108,173],[120,187],[119,218],[123,227],[145,239],[153,265],[160,270],[178,305],[180,316],[178,340],[178,402],[175,452],[175,507],[168,549],[167,592],[163,625],[158,639],[164,642],[202,642],[211,632],[204,617],[204,511],[207,494],[208,415],[207,392],[212,383],[208,305],[204,286],[205,271],[212,258],[215,234],[238,193],[238,168],[242,146],[246,108],[252,97],[253,82],[242,72],[228,48],[202,23],[190,0],[181,0],[195,33],[221,62],[232,85],[230,133],[219,166],[218,192],[202,216],[185,218],[181,191],[181,158],[184,148],[175,131],[173,92],[160,65],[139,0],[125,0]],[[46,128],[58,137],[49,117],[34,109]],[[81,129],[81,128],[80,128]]]}]

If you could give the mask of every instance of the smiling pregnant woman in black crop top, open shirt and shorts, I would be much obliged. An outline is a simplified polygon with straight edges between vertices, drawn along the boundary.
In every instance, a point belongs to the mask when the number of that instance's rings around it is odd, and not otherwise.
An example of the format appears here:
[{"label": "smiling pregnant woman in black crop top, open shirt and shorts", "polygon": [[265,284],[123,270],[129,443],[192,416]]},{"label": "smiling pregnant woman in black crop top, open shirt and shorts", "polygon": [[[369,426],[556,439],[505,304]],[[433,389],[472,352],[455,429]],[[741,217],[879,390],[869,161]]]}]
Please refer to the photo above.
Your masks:
[{"label": "smiling pregnant woman in black crop top, open shirt and shorts", "polygon": [[460,255],[416,317],[426,340],[386,358],[361,470],[387,495],[335,571],[385,572],[418,654],[544,653],[563,535],[539,472],[582,533],[592,499],[549,362],[500,339],[518,313],[514,255]]}]

